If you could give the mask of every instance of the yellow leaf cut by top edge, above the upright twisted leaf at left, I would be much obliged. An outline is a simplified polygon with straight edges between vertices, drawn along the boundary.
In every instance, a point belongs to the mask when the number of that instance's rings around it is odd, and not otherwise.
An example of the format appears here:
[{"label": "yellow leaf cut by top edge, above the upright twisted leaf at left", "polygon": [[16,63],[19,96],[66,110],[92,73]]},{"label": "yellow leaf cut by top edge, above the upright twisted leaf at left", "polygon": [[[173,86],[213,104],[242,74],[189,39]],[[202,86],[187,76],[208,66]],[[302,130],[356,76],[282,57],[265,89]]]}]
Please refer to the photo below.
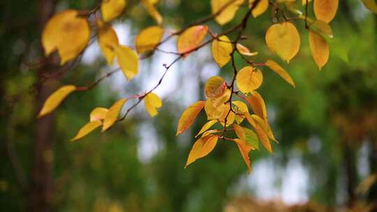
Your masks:
[{"label": "yellow leaf cut by top edge, above the upright twisted leaf at left", "polygon": [[110,22],[123,13],[126,0],[102,0],[101,14],[104,22]]}]

